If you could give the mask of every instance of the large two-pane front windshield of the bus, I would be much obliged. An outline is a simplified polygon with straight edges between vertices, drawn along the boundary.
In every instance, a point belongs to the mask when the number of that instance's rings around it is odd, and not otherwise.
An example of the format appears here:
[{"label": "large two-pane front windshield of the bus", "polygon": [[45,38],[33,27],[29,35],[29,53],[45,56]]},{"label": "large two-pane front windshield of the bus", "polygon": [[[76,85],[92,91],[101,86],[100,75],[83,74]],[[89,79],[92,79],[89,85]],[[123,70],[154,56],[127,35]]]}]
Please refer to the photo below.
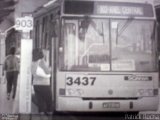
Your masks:
[{"label": "large two-pane front windshield of the bus", "polygon": [[154,21],[63,19],[63,65],[74,71],[154,71]]}]

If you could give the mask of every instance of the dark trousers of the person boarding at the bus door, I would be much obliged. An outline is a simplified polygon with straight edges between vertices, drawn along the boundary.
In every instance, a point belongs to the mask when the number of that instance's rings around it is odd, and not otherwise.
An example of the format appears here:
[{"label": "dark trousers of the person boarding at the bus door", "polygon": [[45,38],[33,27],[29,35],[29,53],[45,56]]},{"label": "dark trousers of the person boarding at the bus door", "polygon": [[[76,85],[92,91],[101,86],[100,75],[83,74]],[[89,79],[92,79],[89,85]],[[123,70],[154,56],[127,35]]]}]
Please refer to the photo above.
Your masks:
[{"label": "dark trousers of the person boarding at the bus door", "polygon": [[37,99],[39,112],[52,112],[51,87],[34,85],[35,97]]}]

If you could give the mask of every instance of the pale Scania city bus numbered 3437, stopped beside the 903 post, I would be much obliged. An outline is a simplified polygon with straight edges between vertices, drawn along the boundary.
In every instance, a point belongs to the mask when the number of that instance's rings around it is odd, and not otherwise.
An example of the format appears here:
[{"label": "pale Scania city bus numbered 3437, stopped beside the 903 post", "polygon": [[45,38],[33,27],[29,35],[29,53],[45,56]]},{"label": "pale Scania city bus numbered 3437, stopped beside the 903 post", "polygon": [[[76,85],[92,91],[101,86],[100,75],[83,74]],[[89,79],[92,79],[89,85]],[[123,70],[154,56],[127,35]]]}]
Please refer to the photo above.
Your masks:
[{"label": "pale Scania city bus numbered 3437, stopped beside the 903 post", "polygon": [[33,17],[33,46],[52,68],[55,111],[158,109],[152,0],[51,0]]}]

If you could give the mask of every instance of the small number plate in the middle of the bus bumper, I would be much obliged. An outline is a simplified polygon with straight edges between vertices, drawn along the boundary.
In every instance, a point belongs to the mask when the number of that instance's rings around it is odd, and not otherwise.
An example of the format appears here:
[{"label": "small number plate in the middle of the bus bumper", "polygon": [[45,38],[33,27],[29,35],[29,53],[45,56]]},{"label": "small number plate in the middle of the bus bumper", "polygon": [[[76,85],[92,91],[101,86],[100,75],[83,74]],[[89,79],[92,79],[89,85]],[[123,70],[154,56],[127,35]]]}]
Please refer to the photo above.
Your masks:
[{"label": "small number plate in the middle of the bus bumper", "polygon": [[102,104],[103,108],[120,108],[119,102],[105,102]]}]

